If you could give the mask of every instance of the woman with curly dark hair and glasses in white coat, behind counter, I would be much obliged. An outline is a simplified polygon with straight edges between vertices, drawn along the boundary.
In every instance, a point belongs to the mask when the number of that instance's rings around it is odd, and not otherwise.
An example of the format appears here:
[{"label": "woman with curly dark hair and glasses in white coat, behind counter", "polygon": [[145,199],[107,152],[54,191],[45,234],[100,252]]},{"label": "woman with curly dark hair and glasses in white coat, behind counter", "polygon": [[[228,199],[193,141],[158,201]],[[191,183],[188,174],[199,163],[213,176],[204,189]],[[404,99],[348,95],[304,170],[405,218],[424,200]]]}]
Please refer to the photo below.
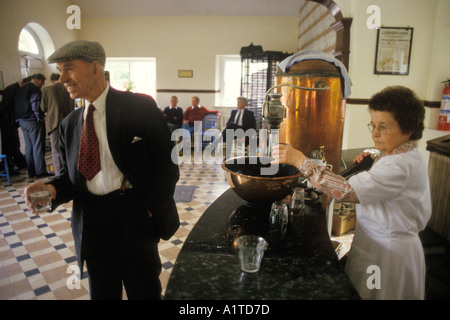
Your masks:
[{"label": "woman with curly dark hair and glasses in white coat, behind counter", "polygon": [[413,91],[396,86],[375,94],[369,111],[368,128],[382,152],[370,170],[347,181],[289,145],[276,146],[273,163],[295,165],[319,190],[357,203],[345,271],[362,299],[424,299],[425,257],[418,234],[431,216],[431,196],[417,140],[425,110]]}]

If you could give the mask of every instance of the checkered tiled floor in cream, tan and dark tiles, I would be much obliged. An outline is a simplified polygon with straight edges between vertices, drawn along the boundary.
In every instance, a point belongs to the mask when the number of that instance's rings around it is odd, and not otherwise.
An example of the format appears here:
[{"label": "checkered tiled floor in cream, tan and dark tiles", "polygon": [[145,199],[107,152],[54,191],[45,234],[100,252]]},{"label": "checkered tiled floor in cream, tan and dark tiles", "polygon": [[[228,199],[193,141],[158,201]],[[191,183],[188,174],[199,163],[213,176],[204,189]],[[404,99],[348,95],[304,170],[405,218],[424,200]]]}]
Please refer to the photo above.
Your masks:
[{"label": "checkered tiled floor in cream, tan and dark tiles", "polygon": [[[48,155],[47,164],[50,161]],[[75,280],[77,263],[70,228],[72,203],[53,213],[34,216],[28,212],[22,196],[30,182],[33,180],[26,170],[12,176],[11,184],[4,177],[0,180],[0,300],[87,300],[87,278]],[[181,164],[178,184],[197,188],[190,202],[177,203],[179,230],[169,241],[159,244],[163,294],[189,232],[207,207],[229,188],[217,164]],[[343,239],[341,254],[351,243],[351,236],[347,238]]]}]

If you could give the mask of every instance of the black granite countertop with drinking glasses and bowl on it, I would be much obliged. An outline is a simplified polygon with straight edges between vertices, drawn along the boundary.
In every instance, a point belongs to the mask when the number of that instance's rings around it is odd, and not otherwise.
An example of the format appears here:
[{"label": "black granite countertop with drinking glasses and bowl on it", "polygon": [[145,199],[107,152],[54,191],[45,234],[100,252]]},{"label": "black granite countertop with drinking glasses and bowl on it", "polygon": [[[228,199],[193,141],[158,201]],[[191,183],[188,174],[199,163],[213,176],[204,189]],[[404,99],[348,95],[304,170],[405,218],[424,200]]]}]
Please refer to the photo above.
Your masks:
[{"label": "black granite countertop with drinking glasses and bowl on it", "polygon": [[[359,299],[331,244],[320,202],[289,217],[282,235],[269,228],[270,204],[254,205],[229,189],[199,219],[172,270],[166,300]],[[269,243],[259,272],[245,273],[236,240]]]}]

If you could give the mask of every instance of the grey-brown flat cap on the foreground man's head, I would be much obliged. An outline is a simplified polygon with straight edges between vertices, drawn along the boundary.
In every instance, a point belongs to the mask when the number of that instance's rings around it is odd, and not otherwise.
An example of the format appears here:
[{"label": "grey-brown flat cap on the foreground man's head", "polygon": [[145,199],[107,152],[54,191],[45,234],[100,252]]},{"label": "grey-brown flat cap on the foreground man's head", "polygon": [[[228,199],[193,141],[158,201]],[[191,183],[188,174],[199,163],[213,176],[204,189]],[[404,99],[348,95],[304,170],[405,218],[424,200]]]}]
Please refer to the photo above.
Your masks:
[{"label": "grey-brown flat cap on the foreground man's head", "polygon": [[48,63],[80,59],[86,62],[98,61],[105,66],[105,50],[100,43],[87,40],[75,40],[63,45],[48,57]]}]

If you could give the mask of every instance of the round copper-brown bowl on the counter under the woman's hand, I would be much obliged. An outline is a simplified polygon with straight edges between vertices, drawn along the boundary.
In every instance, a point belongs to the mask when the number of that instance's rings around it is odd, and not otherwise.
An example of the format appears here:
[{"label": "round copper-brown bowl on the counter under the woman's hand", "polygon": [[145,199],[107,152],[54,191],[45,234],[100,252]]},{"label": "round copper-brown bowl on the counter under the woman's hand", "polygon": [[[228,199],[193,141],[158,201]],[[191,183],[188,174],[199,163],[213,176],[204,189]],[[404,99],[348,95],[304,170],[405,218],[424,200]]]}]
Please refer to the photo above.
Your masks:
[{"label": "round copper-brown bowl on the counter under the woman's hand", "polygon": [[[278,165],[273,175],[261,175],[261,169],[270,167],[268,157],[237,157],[222,163],[228,184],[243,200],[268,203],[284,199],[301,172],[288,164]],[[275,168],[275,167],[272,167]]]}]

